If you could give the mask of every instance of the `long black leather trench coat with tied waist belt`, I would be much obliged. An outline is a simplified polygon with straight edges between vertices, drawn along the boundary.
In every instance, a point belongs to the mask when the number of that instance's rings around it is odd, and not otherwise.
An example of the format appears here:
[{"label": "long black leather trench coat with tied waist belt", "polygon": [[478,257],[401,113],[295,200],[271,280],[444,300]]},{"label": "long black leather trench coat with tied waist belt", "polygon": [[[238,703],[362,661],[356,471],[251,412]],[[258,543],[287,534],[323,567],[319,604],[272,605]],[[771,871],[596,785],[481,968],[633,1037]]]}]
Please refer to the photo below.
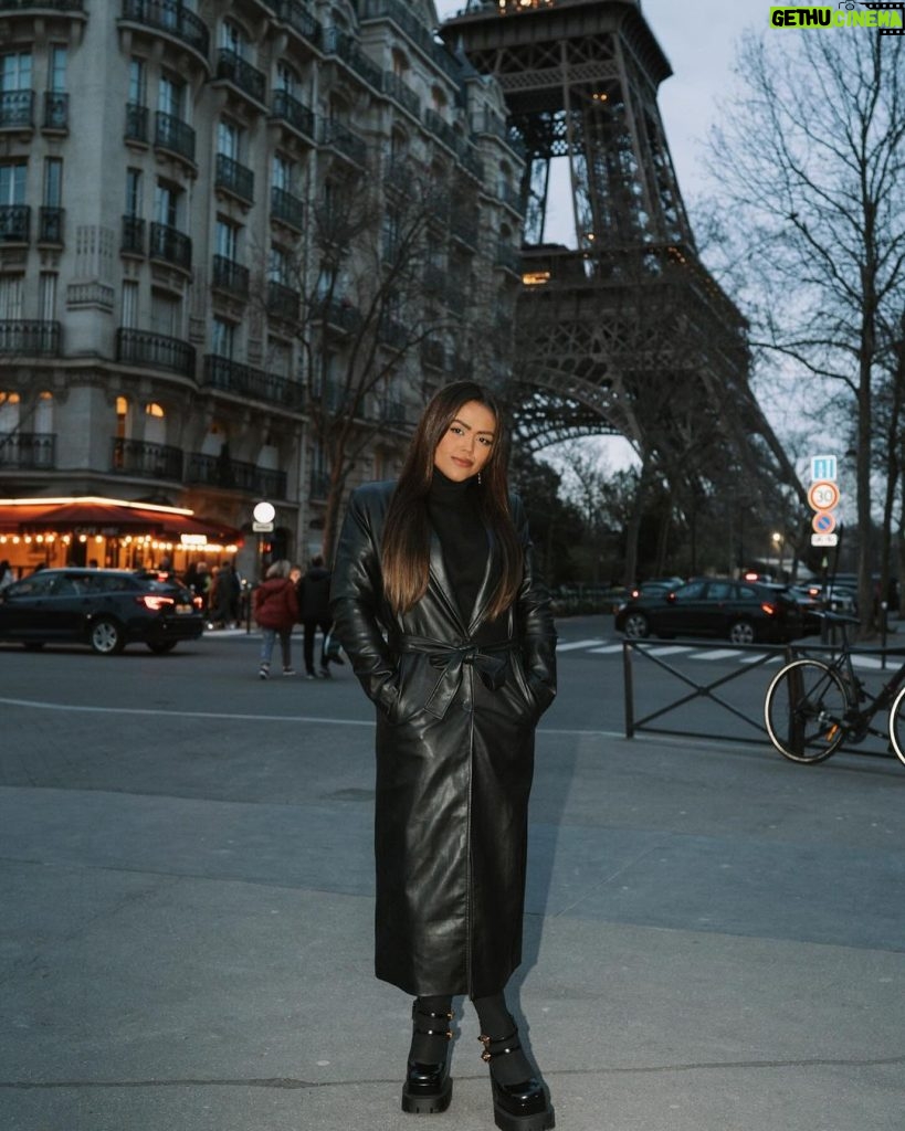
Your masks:
[{"label": "long black leather trench coat with tied waist belt", "polygon": [[555,630],[525,549],[518,597],[489,622],[488,569],[464,623],[431,543],[428,592],[395,616],[380,545],[395,483],[359,487],[334,567],[334,632],[377,706],[376,973],[416,995],[480,998],[522,960],[534,729],[555,694]]}]

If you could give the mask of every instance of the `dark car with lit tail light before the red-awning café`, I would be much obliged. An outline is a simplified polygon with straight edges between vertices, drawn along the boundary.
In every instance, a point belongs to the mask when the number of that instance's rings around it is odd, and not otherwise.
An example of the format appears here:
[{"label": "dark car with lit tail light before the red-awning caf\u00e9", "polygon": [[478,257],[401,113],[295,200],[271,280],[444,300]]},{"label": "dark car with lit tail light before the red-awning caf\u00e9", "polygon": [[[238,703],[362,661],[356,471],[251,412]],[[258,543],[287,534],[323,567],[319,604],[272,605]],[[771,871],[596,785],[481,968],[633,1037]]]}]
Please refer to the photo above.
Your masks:
[{"label": "dark car with lit tail light before the red-awning caf\u00e9", "polygon": [[174,580],[143,571],[45,569],[0,593],[0,640],[26,648],[87,644],[103,656],[143,642],[155,653],[197,640],[204,613]]}]

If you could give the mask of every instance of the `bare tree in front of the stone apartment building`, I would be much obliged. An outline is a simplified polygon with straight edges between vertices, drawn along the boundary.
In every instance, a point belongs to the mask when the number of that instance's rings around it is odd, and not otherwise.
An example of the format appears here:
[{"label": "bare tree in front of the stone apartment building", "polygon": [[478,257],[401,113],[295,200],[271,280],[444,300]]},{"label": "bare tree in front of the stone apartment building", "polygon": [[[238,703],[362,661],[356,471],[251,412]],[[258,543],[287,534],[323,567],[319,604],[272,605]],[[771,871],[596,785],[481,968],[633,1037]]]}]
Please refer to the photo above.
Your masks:
[{"label": "bare tree in front of the stone apartment building", "polygon": [[326,181],[310,202],[305,248],[269,266],[272,283],[287,282],[301,297],[291,326],[303,355],[327,555],[356,461],[381,438],[398,449],[413,415],[406,405],[430,391],[425,372],[436,383],[456,372],[453,342],[464,340],[473,287],[441,250],[455,207],[451,181],[411,159],[373,157],[364,178]]}]

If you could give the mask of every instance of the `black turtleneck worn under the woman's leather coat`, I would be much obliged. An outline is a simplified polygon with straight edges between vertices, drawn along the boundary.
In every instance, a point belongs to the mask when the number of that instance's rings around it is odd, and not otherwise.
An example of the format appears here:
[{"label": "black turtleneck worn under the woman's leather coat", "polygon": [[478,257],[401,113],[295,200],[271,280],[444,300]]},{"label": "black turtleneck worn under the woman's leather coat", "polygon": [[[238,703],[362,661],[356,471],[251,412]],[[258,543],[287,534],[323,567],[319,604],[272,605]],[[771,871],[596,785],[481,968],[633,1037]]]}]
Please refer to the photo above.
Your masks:
[{"label": "black turtleneck worn under the woman's leather coat", "polygon": [[457,483],[439,468],[428,495],[428,516],[440,539],[443,564],[467,623],[488,566],[488,534],[481,520],[477,477]]}]

